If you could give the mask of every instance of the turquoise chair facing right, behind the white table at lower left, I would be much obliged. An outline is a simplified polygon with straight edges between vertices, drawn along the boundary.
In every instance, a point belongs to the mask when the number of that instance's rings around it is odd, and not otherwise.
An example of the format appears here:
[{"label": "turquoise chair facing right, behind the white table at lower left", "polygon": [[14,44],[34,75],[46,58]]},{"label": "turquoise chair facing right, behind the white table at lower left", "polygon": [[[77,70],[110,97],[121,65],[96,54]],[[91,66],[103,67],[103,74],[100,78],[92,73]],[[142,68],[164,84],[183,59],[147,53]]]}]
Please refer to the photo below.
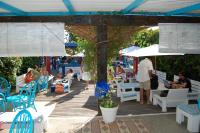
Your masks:
[{"label": "turquoise chair facing right, behind the white table at lower left", "polygon": [[[31,81],[26,84],[22,89],[20,89],[19,95],[7,97],[7,102],[11,103],[14,111],[26,109],[29,107],[35,107],[35,93],[36,93],[37,83],[36,81]],[[37,111],[37,110],[36,110]]]}]

